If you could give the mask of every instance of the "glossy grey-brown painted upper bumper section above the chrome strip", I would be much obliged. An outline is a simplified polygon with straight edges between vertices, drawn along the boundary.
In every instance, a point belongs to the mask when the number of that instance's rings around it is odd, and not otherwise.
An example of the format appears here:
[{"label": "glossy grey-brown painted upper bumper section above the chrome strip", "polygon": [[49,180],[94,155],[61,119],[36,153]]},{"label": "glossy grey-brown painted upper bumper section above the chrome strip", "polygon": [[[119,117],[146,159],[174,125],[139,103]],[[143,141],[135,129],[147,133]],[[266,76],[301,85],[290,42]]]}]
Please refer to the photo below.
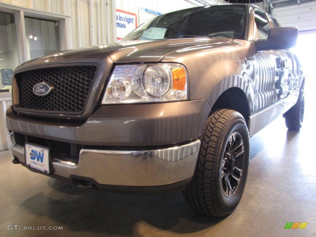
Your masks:
[{"label": "glossy grey-brown painted upper bumper section above the chrome strip", "polygon": [[[122,109],[124,114],[122,114]],[[81,126],[47,122],[7,112],[7,128],[26,135],[74,144],[158,146],[199,137],[210,113],[206,100],[101,106]]]}]

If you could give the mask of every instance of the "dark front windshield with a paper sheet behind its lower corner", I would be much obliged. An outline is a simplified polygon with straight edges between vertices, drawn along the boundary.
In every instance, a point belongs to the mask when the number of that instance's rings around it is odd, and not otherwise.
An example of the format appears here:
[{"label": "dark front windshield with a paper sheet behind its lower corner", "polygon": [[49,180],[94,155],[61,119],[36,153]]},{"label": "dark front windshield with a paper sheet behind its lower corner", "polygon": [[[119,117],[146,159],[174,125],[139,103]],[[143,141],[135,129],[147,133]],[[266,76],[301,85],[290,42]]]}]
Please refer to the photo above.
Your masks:
[{"label": "dark front windshield with a paper sheet behind its lower corner", "polygon": [[157,16],[122,41],[161,40],[182,37],[244,39],[246,5],[214,5]]}]

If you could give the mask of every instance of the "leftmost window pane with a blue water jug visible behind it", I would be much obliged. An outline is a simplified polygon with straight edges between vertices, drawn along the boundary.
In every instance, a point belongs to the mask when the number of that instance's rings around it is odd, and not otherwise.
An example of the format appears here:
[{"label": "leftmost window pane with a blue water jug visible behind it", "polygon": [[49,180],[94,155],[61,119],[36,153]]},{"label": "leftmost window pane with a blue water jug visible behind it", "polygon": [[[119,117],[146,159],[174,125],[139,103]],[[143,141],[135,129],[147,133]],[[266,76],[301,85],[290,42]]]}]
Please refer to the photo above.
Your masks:
[{"label": "leftmost window pane with a blue water jug visible behind it", "polygon": [[[19,64],[14,15],[0,12],[0,89],[11,88],[13,71]],[[3,92],[3,91],[2,91]]]}]

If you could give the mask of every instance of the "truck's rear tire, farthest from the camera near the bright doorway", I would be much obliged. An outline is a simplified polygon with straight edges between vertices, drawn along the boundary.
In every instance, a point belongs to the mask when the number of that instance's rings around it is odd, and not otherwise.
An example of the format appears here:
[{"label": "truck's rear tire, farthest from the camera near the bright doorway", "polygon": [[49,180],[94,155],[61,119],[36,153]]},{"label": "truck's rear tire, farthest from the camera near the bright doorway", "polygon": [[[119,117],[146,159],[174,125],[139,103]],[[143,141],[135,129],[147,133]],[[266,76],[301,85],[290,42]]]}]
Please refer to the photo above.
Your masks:
[{"label": "truck's rear tire, farthest from the camera near the bright doorway", "polygon": [[301,91],[296,104],[284,114],[285,125],[291,131],[298,131],[303,125],[305,109],[304,92]]}]

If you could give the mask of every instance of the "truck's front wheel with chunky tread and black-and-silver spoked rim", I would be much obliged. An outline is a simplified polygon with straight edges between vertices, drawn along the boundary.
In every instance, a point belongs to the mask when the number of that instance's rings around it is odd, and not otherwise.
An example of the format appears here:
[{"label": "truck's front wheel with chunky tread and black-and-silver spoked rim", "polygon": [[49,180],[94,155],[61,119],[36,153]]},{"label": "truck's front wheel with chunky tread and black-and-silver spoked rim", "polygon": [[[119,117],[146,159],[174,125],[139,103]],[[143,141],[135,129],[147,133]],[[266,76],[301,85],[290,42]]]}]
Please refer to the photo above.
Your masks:
[{"label": "truck's front wheel with chunky tread and black-and-silver spoked rim", "polygon": [[249,166],[249,133],[239,112],[222,109],[206,121],[186,201],[200,213],[222,217],[237,206]]}]

